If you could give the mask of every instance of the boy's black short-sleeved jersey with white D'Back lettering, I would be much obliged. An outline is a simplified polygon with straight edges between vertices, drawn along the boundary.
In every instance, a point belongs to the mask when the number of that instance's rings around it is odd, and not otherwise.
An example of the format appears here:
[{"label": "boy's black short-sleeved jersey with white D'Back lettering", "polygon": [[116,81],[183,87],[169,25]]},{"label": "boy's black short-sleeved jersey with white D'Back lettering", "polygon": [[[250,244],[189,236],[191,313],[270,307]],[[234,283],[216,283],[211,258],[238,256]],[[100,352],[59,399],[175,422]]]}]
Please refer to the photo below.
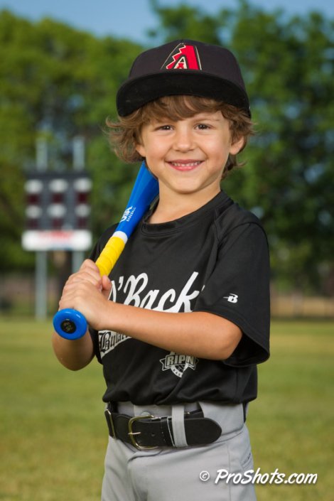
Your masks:
[{"label": "boy's black short-sleeved jersey with white D'Back lettering", "polygon": [[[242,340],[227,360],[206,360],[91,330],[107,382],[104,401],[249,402],[257,396],[257,363],[269,357],[269,252],[262,225],[224,192],[178,220],[149,224],[148,217],[110,274],[111,300],[213,313],[237,324]],[[102,235],[92,259],[113,231]]]}]

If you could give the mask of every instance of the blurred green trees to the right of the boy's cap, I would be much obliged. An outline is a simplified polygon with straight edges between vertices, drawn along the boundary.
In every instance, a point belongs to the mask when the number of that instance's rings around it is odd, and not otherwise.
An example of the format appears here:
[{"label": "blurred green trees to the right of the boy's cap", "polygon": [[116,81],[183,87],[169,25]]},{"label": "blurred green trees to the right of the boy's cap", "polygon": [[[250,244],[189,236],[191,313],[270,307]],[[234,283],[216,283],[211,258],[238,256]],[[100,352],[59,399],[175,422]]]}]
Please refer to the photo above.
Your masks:
[{"label": "blurred green trees to the right of the boy's cap", "polygon": [[257,136],[243,153],[247,166],[224,188],[264,222],[276,282],[325,290],[334,266],[334,21],[289,18],[244,0],[215,16],[151,6],[160,20],[151,36],[161,43],[193,38],[237,55]]}]

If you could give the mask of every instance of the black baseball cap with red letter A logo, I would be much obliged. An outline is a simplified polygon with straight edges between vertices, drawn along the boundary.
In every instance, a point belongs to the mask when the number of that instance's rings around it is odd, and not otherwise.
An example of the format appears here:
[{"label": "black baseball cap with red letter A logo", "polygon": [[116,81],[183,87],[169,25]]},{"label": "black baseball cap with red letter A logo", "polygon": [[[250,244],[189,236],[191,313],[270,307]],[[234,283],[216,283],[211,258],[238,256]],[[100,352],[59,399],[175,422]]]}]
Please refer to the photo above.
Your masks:
[{"label": "black baseball cap with red letter A logo", "polygon": [[250,117],[237,60],[218,45],[176,40],[141,53],[119,87],[117,112],[126,117],[148,102],[172,95],[210,97],[233,104]]}]

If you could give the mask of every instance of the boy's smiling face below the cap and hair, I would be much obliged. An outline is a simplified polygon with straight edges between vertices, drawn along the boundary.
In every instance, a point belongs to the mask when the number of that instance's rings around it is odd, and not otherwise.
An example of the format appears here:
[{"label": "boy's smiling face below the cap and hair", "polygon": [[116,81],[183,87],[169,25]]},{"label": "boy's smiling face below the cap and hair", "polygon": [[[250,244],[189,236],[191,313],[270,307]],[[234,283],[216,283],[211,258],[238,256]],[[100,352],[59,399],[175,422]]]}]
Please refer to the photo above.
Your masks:
[{"label": "boy's smiling face below the cap and hair", "polygon": [[244,139],[232,144],[228,120],[214,112],[150,122],[142,127],[136,150],[158,178],[160,195],[204,190],[209,198],[220,191],[229,154],[237,154],[243,144]]}]

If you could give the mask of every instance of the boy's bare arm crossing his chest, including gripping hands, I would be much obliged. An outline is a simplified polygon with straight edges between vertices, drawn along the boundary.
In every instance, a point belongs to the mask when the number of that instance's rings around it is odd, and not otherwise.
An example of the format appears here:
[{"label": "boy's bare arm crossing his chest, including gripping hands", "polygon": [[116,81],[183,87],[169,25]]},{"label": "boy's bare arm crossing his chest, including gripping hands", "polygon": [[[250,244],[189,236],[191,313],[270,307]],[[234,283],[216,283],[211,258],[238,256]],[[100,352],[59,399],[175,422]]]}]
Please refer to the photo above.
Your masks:
[{"label": "boy's bare arm crossing his chest, including gripping hands", "polygon": [[[95,330],[115,330],[164,350],[212,360],[230,357],[242,338],[237,325],[212,313],[167,313],[114,303],[108,300],[106,293],[101,293],[101,283],[97,266],[86,261],[77,276],[66,284],[60,308],[80,311]],[[106,282],[103,290],[108,286]],[[65,343],[58,343],[62,347],[63,360],[65,352],[66,360],[71,360],[68,350],[75,352],[75,348],[65,350]],[[89,356],[90,353],[87,359]],[[82,357],[81,362],[87,359]]]}]

